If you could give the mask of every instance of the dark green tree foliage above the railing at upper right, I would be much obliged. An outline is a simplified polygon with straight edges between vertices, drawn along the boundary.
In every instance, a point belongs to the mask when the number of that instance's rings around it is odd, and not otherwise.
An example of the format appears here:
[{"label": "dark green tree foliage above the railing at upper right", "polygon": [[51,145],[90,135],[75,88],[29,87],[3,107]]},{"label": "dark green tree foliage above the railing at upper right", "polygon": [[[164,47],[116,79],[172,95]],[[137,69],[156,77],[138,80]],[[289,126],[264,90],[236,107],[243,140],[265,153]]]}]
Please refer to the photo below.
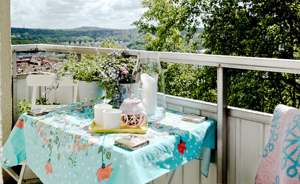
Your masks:
[{"label": "dark green tree foliage above the railing at upper right", "polygon": [[[212,54],[297,59],[298,0],[206,0],[203,47]],[[205,5],[205,6],[204,6]],[[226,15],[226,16],[224,16]]]}]

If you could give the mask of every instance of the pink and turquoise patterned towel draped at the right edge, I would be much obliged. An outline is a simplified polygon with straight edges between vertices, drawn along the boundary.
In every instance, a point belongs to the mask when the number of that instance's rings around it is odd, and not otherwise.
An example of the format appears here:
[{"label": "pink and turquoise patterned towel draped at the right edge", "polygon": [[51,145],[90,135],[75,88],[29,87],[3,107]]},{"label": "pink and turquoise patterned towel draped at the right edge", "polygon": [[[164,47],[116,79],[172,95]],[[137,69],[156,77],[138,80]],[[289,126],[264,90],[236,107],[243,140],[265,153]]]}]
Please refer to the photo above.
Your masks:
[{"label": "pink and turquoise patterned towel draped at the right edge", "polygon": [[300,183],[300,110],[277,105],[255,183]]}]

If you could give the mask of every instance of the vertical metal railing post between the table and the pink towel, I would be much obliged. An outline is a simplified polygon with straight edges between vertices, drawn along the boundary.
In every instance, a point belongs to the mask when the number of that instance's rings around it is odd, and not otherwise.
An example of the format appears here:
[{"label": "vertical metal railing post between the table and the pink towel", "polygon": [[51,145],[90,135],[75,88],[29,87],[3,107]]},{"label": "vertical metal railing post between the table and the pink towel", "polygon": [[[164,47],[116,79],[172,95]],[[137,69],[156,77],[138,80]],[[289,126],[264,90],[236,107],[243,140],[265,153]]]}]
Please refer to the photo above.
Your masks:
[{"label": "vertical metal railing post between the table and the pink towel", "polygon": [[227,68],[217,67],[216,182],[227,183]]}]

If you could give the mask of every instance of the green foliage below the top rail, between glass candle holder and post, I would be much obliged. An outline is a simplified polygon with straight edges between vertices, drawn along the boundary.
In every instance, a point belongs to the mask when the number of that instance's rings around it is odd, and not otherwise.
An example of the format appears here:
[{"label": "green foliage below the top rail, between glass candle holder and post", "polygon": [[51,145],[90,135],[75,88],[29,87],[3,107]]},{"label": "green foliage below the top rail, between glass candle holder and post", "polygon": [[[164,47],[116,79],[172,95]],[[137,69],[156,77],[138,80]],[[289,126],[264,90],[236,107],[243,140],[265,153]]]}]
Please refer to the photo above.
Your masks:
[{"label": "green foliage below the top rail, between glass candle holder and post", "polygon": [[216,75],[211,72],[215,67],[165,64],[168,65],[163,70],[166,94],[216,103]]}]

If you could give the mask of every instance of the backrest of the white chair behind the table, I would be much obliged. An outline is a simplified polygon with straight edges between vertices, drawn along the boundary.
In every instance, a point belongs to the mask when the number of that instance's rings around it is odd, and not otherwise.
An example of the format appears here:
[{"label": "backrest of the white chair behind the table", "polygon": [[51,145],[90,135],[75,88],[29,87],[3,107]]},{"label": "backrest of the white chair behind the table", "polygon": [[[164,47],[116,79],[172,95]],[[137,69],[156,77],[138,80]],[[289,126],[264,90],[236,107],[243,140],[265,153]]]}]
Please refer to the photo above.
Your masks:
[{"label": "backrest of the white chair behind the table", "polygon": [[[47,88],[53,82],[53,78],[52,78],[51,75],[28,75],[26,77],[26,82],[27,82],[27,86],[33,87],[32,97],[31,97],[31,109],[49,108],[49,107],[58,106],[58,105],[36,105],[35,104],[36,94],[39,93],[40,87],[46,87]],[[63,77],[63,79],[59,83],[59,87],[60,86],[72,87],[72,94],[73,94],[72,103],[75,103],[76,99],[77,99],[78,85],[73,83],[73,81],[71,79],[69,79],[67,77]],[[39,96],[41,96],[41,95],[39,95]],[[39,98],[39,96],[38,96],[38,98]]]}]

